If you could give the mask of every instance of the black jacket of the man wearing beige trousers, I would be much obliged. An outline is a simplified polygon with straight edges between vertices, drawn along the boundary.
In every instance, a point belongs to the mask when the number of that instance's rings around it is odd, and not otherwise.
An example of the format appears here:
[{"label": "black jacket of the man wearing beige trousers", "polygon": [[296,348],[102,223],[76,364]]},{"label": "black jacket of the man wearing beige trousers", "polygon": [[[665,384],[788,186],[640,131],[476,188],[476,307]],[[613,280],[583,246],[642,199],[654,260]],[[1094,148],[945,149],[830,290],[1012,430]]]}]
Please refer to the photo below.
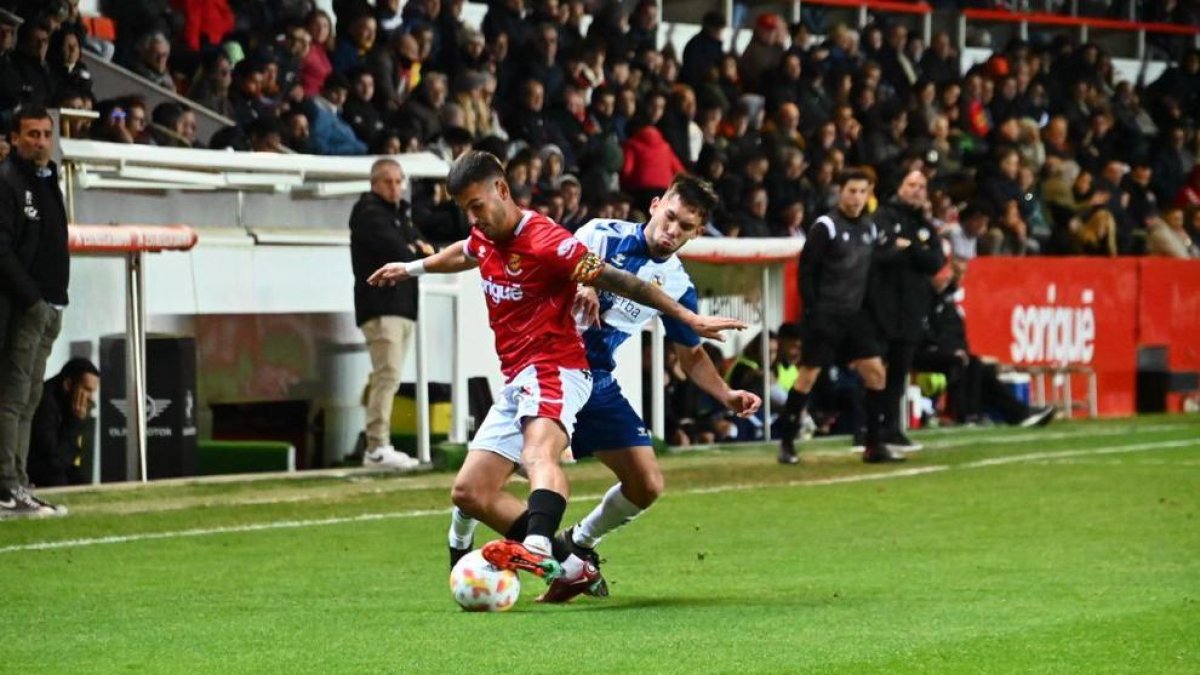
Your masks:
[{"label": "black jacket of the man wearing beige trousers", "polygon": [[408,216],[408,202],[397,209],[374,192],[365,192],[350,211],[350,263],[354,268],[354,318],[359,325],[380,316],[416,321],[416,280],[396,286],[368,286],[380,267],[425,257],[420,234]]}]

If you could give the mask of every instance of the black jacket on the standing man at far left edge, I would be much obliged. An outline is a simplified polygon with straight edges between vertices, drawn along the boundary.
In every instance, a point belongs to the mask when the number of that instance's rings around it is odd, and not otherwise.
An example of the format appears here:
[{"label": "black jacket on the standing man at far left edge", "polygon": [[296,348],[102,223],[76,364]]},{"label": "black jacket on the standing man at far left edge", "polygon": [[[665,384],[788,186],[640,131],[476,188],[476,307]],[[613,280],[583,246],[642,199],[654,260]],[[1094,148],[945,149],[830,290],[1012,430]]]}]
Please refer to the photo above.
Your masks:
[{"label": "black jacket on the standing man at far left edge", "polygon": [[0,163],[0,347],[13,313],[41,300],[67,304],[71,255],[58,168],[37,177],[16,151]]}]

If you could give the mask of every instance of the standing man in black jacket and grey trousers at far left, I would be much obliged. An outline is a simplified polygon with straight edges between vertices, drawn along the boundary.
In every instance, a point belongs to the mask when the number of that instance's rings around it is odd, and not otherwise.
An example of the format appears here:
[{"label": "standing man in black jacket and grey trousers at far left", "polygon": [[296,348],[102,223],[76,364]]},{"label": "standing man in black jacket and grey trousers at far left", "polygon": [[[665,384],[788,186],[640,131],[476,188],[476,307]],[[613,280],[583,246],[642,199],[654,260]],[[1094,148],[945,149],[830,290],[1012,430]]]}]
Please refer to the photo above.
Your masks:
[{"label": "standing man in black jacket and grey trousers at far left", "polygon": [[46,108],[13,119],[0,165],[0,518],[62,515],[29,491],[25,461],[46,359],[62,329],[71,255]]}]

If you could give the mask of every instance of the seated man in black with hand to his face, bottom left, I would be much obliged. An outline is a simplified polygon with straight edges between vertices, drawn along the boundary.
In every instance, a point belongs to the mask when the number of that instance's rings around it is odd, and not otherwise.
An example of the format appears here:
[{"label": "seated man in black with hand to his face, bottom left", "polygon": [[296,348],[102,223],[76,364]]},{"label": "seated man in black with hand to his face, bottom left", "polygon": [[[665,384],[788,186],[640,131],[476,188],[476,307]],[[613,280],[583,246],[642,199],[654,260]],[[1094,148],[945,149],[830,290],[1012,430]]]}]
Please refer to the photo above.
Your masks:
[{"label": "seated man in black with hand to his face, bottom left", "polygon": [[85,422],[100,389],[100,370],[88,359],[68,360],[46,381],[29,442],[29,478],[38,488],[79,485]]}]

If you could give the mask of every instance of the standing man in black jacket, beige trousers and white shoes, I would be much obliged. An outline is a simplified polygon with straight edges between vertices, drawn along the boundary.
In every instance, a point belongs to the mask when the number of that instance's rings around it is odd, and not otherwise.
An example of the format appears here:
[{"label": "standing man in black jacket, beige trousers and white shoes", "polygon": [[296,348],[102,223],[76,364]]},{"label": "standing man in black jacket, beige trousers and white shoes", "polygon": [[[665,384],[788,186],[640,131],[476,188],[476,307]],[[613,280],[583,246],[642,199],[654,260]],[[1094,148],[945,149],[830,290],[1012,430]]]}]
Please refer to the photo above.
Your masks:
[{"label": "standing man in black jacket, beige trousers and white shoes", "polygon": [[422,258],[433,249],[420,238],[401,199],[404,172],[395,160],[371,166],[371,192],[350,213],[350,262],[354,315],[371,353],[367,392],[367,448],[364,466],[412,468],[418,461],[391,446],[391,404],[416,325],[415,279],[396,286],[371,286],[371,274],[389,262]]}]

